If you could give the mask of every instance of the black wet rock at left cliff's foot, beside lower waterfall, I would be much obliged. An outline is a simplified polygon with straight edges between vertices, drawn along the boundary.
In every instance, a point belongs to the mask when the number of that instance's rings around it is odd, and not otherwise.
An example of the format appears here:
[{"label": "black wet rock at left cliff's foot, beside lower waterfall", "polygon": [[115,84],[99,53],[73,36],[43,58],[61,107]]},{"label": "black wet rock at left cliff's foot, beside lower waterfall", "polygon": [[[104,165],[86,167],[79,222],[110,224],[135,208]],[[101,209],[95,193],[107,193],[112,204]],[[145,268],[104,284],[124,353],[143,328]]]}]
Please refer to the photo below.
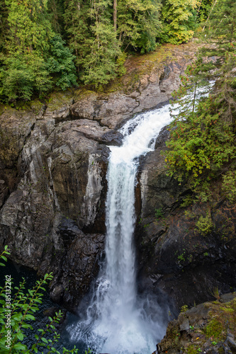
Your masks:
[{"label": "black wet rock at left cliff's foot, beside lower waterfall", "polygon": [[63,218],[56,233],[62,240],[62,247],[52,256],[55,277],[50,284],[50,295],[74,312],[99,272],[104,236],[84,234],[72,220]]}]

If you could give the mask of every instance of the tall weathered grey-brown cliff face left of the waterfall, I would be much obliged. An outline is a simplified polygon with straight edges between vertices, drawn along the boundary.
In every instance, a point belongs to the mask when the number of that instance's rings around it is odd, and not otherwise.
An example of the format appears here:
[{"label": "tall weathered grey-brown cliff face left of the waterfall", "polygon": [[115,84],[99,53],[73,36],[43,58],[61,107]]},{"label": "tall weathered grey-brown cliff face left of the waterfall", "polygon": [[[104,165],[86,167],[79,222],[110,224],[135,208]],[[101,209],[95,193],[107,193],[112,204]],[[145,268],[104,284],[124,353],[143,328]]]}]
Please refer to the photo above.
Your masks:
[{"label": "tall weathered grey-brown cliff face left of the waterfall", "polygon": [[52,298],[73,311],[99,270],[105,144],[120,144],[122,135],[86,120],[56,124],[55,118],[18,113],[2,119],[1,244],[9,245],[14,261],[40,274],[52,271]]}]

